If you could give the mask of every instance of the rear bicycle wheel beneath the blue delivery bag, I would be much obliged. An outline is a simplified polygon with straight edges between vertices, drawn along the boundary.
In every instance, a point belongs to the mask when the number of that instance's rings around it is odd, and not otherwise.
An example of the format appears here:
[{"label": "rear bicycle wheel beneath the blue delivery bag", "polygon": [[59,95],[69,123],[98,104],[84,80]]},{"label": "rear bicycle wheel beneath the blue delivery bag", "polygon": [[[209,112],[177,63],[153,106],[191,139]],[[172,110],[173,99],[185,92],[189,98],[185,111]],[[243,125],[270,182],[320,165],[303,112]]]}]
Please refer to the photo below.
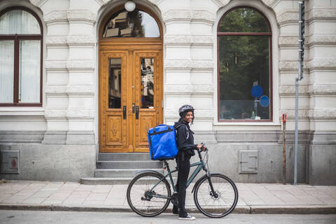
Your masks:
[{"label": "rear bicycle wheel beneath the blue delivery bag", "polygon": [[155,172],[135,176],[127,188],[127,202],[131,209],[145,217],[158,216],[165,211],[171,195],[167,180]]}]

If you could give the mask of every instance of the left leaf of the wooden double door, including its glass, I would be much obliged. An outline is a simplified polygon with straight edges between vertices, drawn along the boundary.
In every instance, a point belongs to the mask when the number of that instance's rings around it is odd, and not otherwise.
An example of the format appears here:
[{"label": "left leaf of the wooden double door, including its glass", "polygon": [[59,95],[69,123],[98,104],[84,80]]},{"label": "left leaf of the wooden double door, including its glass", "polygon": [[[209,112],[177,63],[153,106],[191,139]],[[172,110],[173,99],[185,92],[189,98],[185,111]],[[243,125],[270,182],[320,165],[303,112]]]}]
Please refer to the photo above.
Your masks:
[{"label": "left leaf of the wooden double door, including its glass", "polygon": [[[102,51],[99,73],[99,140],[101,152],[128,151],[127,106],[128,52]],[[126,111],[127,112],[127,111]]]}]

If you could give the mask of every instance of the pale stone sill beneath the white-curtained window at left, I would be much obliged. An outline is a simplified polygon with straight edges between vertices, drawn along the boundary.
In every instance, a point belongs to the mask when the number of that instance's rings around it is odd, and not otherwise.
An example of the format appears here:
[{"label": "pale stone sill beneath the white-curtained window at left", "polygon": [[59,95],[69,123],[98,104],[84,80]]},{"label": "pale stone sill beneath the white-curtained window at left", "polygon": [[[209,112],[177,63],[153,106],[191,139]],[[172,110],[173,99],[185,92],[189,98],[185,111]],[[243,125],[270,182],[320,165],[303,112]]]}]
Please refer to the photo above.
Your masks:
[{"label": "pale stone sill beneath the white-curtained window at left", "polygon": [[0,116],[44,116],[44,108],[41,107],[0,107]]}]

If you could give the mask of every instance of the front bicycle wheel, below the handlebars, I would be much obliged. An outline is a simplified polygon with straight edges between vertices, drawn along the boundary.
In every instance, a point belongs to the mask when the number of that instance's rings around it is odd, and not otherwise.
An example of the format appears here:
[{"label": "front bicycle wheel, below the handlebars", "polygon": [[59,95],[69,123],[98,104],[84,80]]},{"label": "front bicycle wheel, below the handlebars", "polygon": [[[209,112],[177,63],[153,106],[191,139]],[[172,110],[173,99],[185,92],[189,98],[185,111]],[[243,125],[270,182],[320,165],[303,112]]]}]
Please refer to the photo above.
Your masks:
[{"label": "front bicycle wheel, below the handlebars", "polygon": [[194,192],[196,207],[210,218],[222,218],[235,209],[238,202],[238,190],[235,183],[222,174],[211,174],[211,191],[207,175],[197,181]]}]

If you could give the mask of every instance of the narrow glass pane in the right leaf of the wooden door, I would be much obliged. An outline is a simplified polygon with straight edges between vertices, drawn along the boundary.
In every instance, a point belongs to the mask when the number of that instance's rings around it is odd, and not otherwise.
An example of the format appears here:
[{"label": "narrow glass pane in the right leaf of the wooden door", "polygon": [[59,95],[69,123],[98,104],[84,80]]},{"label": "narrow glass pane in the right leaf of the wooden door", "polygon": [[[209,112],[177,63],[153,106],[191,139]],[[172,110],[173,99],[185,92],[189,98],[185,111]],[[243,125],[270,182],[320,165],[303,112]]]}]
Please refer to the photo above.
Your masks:
[{"label": "narrow glass pane in the right leaf of the wooden door", "polygon": [[141,58],[141,108],[154,108],[153,58]]}]

